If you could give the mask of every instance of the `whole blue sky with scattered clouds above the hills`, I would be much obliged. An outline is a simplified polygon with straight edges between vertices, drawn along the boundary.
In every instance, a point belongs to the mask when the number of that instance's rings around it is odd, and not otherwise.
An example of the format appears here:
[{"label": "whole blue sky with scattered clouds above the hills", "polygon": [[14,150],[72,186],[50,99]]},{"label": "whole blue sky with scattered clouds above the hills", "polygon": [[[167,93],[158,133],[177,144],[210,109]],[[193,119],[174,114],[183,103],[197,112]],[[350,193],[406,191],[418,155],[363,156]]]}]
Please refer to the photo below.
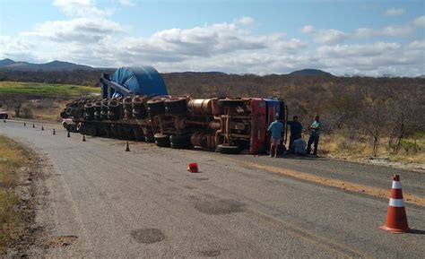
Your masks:
[{"label": "whole blue sky with scattered clouds above the hills", "polygon": [[423,1],[0,0],[0,58],[162,72],[425,74]]}]

